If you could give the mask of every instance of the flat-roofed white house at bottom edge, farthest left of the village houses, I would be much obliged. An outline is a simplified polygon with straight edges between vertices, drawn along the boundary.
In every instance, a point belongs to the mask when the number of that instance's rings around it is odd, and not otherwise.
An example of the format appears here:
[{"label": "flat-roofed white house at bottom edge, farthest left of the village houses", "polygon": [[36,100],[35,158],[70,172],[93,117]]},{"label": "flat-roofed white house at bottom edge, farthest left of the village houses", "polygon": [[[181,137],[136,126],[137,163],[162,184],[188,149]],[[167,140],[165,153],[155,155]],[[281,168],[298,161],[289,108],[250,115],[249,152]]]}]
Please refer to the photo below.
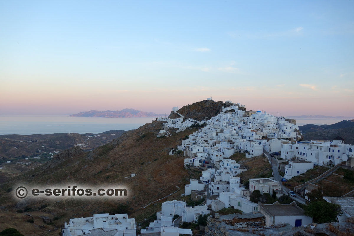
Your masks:
[{"label": "flat-roofed white house at bottom edge, farthest left of the village houses", "polygon": [[129,219],[128,214],[95,214],[92,217],[70,219],[65,221],[63,236],[76,236],[95,233],[101,235],[104,232],[109,235],[136,236],[136,222],[134,218]]}]

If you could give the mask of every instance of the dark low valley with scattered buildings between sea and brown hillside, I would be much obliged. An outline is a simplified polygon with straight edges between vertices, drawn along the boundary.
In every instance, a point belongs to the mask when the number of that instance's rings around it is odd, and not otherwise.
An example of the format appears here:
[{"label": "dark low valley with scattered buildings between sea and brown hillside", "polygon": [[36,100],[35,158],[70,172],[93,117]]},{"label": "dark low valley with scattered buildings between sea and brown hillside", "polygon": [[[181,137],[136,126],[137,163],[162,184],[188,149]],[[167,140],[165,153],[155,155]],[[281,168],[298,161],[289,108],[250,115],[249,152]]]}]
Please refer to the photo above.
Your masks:
[{"label": "dark low valley with scattered buildings between sea and brown hillside", "polygon": [[[0,136],[0,183],[21,175],[51,159],[56,152],[81,144],[84,151],[102,146],[118,138],[124,130],[111,130],[99,134],[55,133],[55,134],[6,134]],[[113,135],[114,134],[114,135]],[[11,161],[11,163],[6,163]],[[30,162],[19,165],[16,162]]]}]

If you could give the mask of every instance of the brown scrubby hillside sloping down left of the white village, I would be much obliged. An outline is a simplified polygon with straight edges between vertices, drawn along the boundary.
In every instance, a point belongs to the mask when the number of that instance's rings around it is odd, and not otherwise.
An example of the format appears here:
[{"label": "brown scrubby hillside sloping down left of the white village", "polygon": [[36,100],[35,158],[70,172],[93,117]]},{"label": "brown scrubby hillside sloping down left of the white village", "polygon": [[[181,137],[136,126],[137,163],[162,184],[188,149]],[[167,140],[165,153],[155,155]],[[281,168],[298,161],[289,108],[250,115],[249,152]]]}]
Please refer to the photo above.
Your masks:
[{"label": "brown scrubby hillside sloping down left of the white village", "polygon": [[[83,152],[74,147],[56,155],[51,161],[23,175],[8,179],[0,185],[0,209],[15,212],[24,207],[38,208],[48,205],[44,210],[62,224],[69,218],[82,217],[93,213],[124,212],[137,221],[153,214],[157,207],[148,203],[169,195],[178,188],[176,196],[183,191],[184,184],[189,181],[189,173],[183,168],[183,156],[169,156],[169,151],[181,144],[182,138],[195,129],[174,133],[172,136],[156,138],[162,122],[154,121],[138,129],[127,131],[121,137],[108,144],[95,148],[91,152]],[[131,178],[130,174],[136,177]],[[16,180],[16,181],[13,181]],[[84,198],[80,200],[25,198],[15,201],[11,188],[18,184],[28,186],[79,185],[89,183],[98,186],[125,186],[128,196],[116,200],[104,198]],[[123,205],[120,205],[123,204]],[[1,211],[0,210],[0,216]],[[0,229],[1,230],[1,229]]]}]

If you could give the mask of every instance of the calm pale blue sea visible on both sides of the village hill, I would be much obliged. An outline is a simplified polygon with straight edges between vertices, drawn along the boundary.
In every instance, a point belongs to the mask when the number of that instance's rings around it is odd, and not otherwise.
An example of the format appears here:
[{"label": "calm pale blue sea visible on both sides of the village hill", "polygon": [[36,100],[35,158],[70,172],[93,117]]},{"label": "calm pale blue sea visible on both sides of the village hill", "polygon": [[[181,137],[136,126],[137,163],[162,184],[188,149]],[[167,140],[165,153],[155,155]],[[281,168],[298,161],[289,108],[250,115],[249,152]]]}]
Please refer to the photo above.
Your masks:
[{"label": "calm pale blue sea visible on both sides of the village hill", "polygon": [[[150,123],[156,117],[103,118],[66,115],[0,115],[2,134],[102,133],[120,129],[128,131]],[[331,125],[343,119],[297,118],[297,125]],[[345,119],[349,120],[349,119]]]}]

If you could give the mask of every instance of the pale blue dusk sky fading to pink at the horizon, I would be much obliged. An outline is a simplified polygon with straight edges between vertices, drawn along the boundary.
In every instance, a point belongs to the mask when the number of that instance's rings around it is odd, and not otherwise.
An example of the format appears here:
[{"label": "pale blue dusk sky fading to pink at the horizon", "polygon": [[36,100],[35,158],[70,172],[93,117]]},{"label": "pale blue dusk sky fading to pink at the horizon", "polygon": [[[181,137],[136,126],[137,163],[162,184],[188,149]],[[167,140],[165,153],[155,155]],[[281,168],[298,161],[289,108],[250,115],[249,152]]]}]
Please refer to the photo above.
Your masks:
[{"label": "pale blue dusk sky fading to pink at the horizon", "polygon": [[212,96],[354,117],[354,1],[0,1],[0,115]]}]

